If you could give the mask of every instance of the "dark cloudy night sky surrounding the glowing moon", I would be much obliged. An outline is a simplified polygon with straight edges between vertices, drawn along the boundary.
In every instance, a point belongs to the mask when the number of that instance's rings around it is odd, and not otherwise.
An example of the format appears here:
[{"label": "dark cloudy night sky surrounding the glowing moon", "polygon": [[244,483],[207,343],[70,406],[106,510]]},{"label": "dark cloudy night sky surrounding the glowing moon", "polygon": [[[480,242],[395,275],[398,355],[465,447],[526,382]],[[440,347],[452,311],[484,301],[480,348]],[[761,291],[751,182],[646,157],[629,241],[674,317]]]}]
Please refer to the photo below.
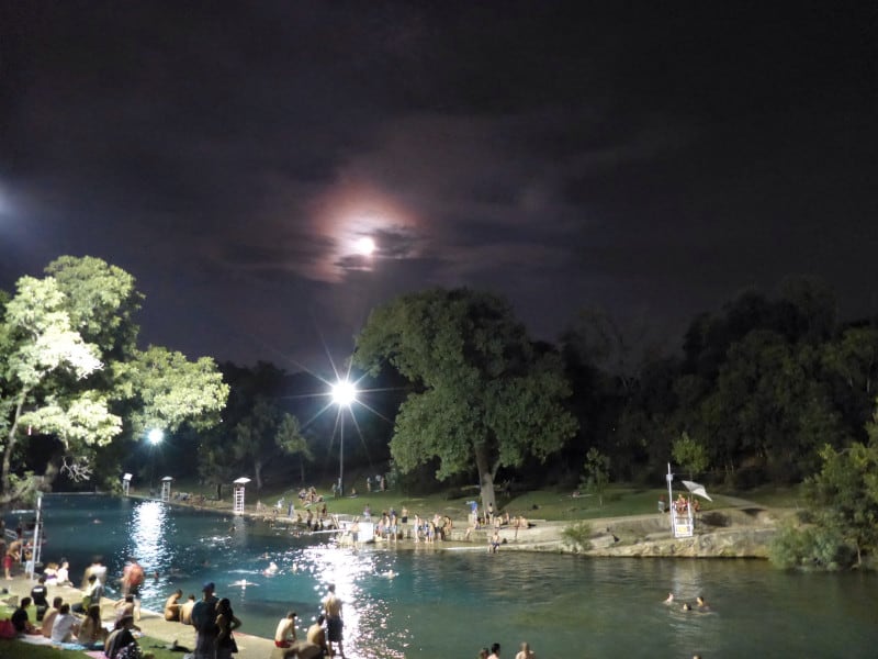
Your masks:
[{"label": "dark cloudy night sky surrounding the glowing moon", "polygon": [[144,343],[291,371],[437,284],[549,340],[605,306],[669,350],[786,275],[871,314],[877,27],[853,2],[0,0],[0,288],[99,256],[146,293]]}]

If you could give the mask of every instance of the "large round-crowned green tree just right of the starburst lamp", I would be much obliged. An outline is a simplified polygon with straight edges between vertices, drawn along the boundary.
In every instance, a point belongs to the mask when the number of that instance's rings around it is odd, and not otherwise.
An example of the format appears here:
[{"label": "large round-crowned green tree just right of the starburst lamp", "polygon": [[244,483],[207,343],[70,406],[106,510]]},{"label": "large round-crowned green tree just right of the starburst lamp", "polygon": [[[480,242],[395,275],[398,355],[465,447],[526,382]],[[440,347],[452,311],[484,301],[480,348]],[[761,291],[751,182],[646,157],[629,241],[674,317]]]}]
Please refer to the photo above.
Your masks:
[{"label": "large round-crowned green tree just right of the starburst lamp", "polygon": [[436,476],[479,474],[496,504],[500,467],[559,450],[576,432],[561,402],[561,360],[538,351],[508,303],[468,289],[403,295],[375,309],[354,362],[376,375],[387,361],[415,390],[396,416],[391,454],[403,472],[438,458]]}]

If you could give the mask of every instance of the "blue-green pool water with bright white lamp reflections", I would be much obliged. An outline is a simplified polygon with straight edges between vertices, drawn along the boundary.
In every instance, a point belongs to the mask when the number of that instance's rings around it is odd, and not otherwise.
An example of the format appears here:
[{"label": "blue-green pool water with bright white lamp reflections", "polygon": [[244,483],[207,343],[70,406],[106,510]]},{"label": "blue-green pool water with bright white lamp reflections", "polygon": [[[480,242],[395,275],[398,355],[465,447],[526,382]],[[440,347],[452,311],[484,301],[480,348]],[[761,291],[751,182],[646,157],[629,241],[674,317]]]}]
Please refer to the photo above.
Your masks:
[{"label": "blue-green pool water with bright white lamp reflections", "polygon": [[[148,608],[177,588],[198,594],[210,580],[232,600],[243,632],[271,637],[290,608],[303,633],[335,583],[349,657],[474,657],[494,641],[510,657],[521,640],[540,657],[835,657],[840,638],[846,657],[873,657],[878,647],[873,574],[425,546],[354,551],[244,517],[102,496],[49,496],[45,511],[45,560],[66,555],[76,579],[94,552],[115,574],[134,555],[148,576],[159,572],[143,590]],[[278,574],[263,573],[269,561]],[[713,612],[665,606],[668,591],[679,602],[703,593]]]}]

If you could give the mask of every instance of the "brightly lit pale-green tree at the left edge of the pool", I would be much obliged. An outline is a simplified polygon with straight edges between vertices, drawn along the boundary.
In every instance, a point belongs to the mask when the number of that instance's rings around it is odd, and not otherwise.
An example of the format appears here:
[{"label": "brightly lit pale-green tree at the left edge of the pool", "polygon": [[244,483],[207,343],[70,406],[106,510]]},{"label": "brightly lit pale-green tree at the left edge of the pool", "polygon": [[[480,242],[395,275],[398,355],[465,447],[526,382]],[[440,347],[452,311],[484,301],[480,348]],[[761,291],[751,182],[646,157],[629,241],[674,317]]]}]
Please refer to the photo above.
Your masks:
[{"label": "brightly lit pale-green tree at the left edge of the pool", "polygon": [[[130,275],[91,257],[61,257],[46,270],[22,277],[1,309],[0,501],[50,487],[59,465],[90,478],[95,451],[146,423],[210,425],[228,393],[210,359],[136,350],[132,317],[143,297]],[[32,435],[57,444],[40,479],[21,478]]]}]

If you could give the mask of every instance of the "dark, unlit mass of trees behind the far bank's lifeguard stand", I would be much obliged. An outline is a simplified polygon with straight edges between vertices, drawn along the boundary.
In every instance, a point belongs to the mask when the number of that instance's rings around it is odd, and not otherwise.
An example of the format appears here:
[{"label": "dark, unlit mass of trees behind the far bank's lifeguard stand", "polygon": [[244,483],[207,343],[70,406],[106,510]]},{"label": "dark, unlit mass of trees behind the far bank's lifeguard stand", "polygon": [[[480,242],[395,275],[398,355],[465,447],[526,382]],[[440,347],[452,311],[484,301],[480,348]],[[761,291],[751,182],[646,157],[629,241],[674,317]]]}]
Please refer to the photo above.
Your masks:
[{"label": "dark, unlit mass of trees behind the far bank's lifeguard stand", "polygon": [[[678,355],[645,349],[634,359],[607,325],[588,314],[563,337],[581,421],[567,454],[597,446],[617,478],[657,477],[685,436],[706,454],[708,477],[796,482],[819,469],[824,445],[866,436],[878,328],[838,323],[834,295],[818,281],[785,282],[775,297],[746,291],[698,315]],[[612,350],[629,359],[608,360]]]}]

